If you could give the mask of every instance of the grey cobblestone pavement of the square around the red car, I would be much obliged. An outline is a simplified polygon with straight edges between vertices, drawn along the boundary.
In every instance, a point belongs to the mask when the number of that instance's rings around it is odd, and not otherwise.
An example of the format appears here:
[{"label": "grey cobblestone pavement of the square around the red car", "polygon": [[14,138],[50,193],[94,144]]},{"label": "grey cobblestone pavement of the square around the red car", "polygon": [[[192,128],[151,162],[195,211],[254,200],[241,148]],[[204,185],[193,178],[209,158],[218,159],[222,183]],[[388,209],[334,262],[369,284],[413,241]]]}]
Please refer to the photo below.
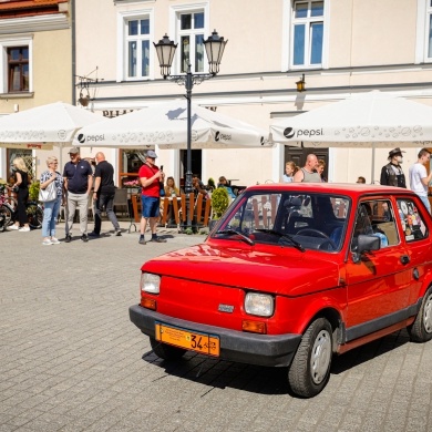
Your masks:
[{"label": "grey cobblestone pavement of the square around the red car", "polygon": [[162,234],[48,247],[40,230],[0,233],[0,432],[432,430],[432,342],[405,331],[336,358],[309,400],[289,393],[286,369],[160,360],[128,320],[140,266],[204,238]]}]

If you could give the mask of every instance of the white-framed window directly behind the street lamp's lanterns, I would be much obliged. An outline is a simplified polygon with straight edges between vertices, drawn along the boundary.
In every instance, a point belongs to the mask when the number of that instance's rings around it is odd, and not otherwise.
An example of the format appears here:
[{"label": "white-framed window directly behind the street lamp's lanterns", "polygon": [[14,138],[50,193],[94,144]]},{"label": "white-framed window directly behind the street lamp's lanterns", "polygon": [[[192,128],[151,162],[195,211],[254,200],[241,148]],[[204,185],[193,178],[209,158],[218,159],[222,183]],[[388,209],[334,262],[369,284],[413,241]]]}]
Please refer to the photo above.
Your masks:
[{"label": "white-framed window directly behind the street lamp's lanterns", "polygon": [[186,73],[188,64],[192,72],[205,72],[204,18],[203,10],[177,13],[179,73]]}]

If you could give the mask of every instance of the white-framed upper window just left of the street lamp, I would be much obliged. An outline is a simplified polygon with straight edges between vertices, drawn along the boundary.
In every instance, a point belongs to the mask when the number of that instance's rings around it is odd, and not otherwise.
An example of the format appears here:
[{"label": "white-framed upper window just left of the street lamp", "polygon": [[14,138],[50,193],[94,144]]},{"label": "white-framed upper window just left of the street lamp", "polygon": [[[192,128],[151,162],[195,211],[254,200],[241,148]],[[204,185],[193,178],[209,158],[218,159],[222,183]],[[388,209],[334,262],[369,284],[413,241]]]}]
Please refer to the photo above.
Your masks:
[{"label": "white-framed upper window just left of the street lamp", "polygon": [[150,18],[125,20],[126,79],[142,79],[150,74]]}]

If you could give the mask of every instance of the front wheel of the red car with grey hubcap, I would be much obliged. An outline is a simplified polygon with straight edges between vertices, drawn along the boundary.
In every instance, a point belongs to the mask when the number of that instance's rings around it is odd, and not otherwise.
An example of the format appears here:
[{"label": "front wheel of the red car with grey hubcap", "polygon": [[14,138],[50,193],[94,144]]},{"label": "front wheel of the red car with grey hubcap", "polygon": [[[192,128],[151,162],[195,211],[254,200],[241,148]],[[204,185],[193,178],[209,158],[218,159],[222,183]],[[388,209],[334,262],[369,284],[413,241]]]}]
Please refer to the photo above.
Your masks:
[{"label": "front wheel of the red car with grey hubcap", "polygon": [[318,394],[330,377],[332,329],[325,318],[315,320],[306,330],[288,371],[291,390],[301,397]]}]

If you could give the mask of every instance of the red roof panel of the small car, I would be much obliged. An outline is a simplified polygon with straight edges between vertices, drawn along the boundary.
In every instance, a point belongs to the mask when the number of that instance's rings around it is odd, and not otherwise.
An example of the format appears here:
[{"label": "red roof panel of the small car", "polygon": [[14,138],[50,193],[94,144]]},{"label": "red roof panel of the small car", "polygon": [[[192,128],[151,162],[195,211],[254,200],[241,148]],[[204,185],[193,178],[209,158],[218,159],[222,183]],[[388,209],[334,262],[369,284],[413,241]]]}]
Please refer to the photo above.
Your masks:
[{"label": "red roof panel of the small car", "polygon": [[264,185],[250,186],[247,191],[301,191],[302,193],[331,193],[358,197],[370,194],[390,195],[415,195],[412,191],[402,187],[367,185],[362,183],[266,183]]}]

